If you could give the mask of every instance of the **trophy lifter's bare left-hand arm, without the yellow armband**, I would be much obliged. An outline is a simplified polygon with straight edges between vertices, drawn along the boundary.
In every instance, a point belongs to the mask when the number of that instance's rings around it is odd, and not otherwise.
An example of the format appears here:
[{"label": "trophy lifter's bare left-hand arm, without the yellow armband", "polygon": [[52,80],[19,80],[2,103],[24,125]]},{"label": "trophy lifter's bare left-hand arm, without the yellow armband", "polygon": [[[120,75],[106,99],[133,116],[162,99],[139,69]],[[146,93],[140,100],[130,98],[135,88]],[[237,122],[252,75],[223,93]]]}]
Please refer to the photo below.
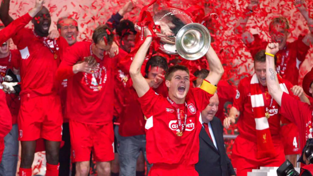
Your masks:
[{"label": "trophy lifter's bare left-hand arm, without the yellow armband", "polygon": [[[151,32],[147,28],[145,29],[145,33],[151,35]],[[149,36],[145,39],[145,41],[137,51],[129,69],[129,74],[131,75],[131,79],[133,80],[133,87],[135,88],[139,97],[145,95],[150,89],[150,86],[147,83],[146,79],[141,75],[141,66],[145,60],[151,42],[152,37]]]}]

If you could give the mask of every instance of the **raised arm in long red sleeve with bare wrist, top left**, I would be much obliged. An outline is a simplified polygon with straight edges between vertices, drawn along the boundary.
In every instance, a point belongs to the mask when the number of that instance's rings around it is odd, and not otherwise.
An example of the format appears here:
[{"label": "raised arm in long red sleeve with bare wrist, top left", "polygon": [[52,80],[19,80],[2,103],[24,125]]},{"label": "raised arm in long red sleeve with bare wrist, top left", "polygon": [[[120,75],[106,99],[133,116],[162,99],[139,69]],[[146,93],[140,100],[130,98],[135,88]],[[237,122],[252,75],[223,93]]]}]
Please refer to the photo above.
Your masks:
[{"label": "raised arm in long red sleeve with bare wrist, top left", "polygon": [[20,29],[24,28],[26,24],[41,10],[44,0],[36,0],[35,7],[27,14],[14,20],[11,24],[1,30],[0,33],[0,45],[8,39],[12,38]]}]

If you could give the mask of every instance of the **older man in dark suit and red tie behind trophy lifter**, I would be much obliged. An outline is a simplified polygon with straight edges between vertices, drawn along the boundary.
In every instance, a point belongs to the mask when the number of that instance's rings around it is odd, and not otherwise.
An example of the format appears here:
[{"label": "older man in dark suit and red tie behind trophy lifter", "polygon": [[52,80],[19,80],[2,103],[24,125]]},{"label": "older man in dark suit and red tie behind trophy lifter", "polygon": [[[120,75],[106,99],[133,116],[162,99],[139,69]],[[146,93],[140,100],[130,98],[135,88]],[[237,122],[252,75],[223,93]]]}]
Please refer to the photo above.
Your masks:
[{"label": "older man in dark suit and red tie behind trophy lifter", "polygon": [[210,104],[201,112],[203,128],[200,132],[199,162],[196,170],[199,176],[236,175],[224,146],[223,125],[215,117],[218,111],[218,95],[215,93]]}]

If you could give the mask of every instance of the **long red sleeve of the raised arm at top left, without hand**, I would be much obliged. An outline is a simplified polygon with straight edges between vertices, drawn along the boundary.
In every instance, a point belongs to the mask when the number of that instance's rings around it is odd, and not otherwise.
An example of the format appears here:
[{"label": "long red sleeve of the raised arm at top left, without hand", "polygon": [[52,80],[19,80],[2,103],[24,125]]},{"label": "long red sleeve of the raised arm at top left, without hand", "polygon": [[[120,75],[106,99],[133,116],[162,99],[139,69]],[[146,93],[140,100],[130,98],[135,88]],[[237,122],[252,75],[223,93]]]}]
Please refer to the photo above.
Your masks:
[{"label": "long red sleeve of the raised arm at top left, without hand", "polygon": [[0,45],[2,45],[3,42],[5,42],[8,39],[12,38],[13,35],[15,35],[21,29],[23,29],[26,26],[26,24],[29,23],[29,21],[31,19],[32,19],[32,17],[29,16],[28,13],[26,13],[22,17],[14,20],[7,27],[5,27],[3,30],[1,30],[1,33],[0,33]]}]

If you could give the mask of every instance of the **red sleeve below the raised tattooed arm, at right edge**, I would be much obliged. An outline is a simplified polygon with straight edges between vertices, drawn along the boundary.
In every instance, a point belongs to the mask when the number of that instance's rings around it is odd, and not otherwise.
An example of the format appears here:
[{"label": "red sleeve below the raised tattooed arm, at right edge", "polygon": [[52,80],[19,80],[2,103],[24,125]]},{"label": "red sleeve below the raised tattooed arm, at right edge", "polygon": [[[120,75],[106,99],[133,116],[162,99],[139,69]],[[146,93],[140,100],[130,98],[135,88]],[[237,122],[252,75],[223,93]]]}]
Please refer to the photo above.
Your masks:
[{"label": "red sleeve below the raised tattooed arm, at right edge", "polygon": [[[310,121],[312,116],[308,116],[308,113],[312,113],[310,105],[307,103],[297,101],[287,93],[283,93],[281,98],[280,114],[286,117],[290,122],[295,123],[298,128],[302,128],[303,124]],[[307,119],[310,118],[310,119]]]}]

